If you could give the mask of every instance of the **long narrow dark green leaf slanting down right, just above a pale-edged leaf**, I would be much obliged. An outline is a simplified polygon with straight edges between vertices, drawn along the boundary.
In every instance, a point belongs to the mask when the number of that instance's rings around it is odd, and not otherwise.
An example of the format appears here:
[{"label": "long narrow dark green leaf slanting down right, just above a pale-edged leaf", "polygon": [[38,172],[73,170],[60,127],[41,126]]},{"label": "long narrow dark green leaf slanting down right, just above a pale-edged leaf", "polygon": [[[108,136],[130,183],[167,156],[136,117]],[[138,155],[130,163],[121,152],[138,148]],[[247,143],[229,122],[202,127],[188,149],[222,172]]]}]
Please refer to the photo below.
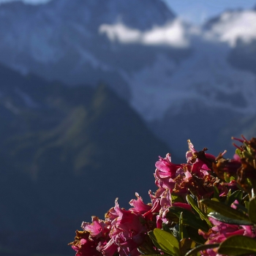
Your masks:
[{"label": "long narrow dark green leaf slanting down right, just above a pale-edged leaf", "polygon": [[213,209],[213,211],[217,211],[219,214],[222,214],[227,218],[244,219],[246,221],[249,221],[249,218],[246,216],[246,214],[242,214],[240,211],[237,211],[236,209],[231,208],[230,206],[227,206],[224,203],[220,203],[210,199],[200,200],[200,203],[203,203],[204,205]]}]

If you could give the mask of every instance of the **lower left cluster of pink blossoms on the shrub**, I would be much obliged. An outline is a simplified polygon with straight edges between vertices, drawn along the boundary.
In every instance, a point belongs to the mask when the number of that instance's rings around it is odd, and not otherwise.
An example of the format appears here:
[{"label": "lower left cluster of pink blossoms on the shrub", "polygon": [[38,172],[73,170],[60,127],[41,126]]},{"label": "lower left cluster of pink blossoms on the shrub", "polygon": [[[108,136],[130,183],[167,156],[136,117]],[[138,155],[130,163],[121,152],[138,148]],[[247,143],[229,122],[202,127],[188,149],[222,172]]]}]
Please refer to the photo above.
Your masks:
[{"label": "lower left cluster of pink blossoms on the shrub", "polygon": [[[92,222],[83,222],[84,236],[76,236],[72,248],[77,256],[138,256],[138,247],[143,244],[148,230],[151,230],[151,219],[154,208],[143,203],[137,194],[137,200],[130,202],[133,208],[128,211],[116,205],[105,214],[105,220],[92,217]],[[78,233],[79,231],[77,231]]]}]

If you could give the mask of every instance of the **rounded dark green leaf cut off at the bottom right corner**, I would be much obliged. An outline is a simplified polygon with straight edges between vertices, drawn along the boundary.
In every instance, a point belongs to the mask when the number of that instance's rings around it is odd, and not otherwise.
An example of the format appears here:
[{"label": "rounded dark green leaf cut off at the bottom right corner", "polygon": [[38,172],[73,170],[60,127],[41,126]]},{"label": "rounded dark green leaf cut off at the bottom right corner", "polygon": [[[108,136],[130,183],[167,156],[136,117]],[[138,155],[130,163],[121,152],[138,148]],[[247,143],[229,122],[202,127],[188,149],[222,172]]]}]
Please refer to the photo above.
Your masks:
[{"label": "rounded dark green leaf cut off at the bottom right corner", "polygon": [[256,240],[248,236],[230,236],[219,245],[221,255],[249,255],[256,254]]}]

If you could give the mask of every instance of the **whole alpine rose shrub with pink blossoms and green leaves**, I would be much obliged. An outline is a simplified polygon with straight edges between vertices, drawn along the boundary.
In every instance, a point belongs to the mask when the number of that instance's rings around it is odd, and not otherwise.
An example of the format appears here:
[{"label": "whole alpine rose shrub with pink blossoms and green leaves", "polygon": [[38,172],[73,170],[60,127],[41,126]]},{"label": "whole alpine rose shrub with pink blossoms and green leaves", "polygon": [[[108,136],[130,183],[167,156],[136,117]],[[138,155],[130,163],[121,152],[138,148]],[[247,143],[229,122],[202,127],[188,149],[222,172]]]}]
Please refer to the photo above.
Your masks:
[{"label": "whole alpine rose shrub with pink blossoms and green leaves", "polygon": [[128,210],[116,199],[104,220],[83,222],[70,243],[76,256],[255,255],[256,138],[233,140],[243,143],[233,159],[197,151],[190,140],[186,162],[159,157],[150,203],[135,193]]}]

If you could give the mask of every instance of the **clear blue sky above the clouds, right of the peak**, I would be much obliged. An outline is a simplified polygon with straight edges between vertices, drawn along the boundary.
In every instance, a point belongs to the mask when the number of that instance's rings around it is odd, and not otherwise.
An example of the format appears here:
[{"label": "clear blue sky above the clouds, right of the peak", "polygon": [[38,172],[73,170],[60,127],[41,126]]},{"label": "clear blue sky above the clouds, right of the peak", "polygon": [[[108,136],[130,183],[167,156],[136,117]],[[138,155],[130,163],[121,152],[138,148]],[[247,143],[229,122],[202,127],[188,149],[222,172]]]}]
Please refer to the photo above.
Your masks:
[{"label": "clear blue sky above the clouds, right of the peak", "polygon": [[[12,1],[12,0],[0,0]],[[37,4],[49,0],[23,0]],[[75,1],[75,0],[70,0]],[[86,0],[85,0],[86,1]],[[116,0],[118,1],[118,0]],[[128,0],[127,0],[128,1]],[[138,0],[139,1],[139,0]],[[256,6],[256,0],[163,0],[177,15],[193,23],[203,23],[227,9],[249,9]]]}]

